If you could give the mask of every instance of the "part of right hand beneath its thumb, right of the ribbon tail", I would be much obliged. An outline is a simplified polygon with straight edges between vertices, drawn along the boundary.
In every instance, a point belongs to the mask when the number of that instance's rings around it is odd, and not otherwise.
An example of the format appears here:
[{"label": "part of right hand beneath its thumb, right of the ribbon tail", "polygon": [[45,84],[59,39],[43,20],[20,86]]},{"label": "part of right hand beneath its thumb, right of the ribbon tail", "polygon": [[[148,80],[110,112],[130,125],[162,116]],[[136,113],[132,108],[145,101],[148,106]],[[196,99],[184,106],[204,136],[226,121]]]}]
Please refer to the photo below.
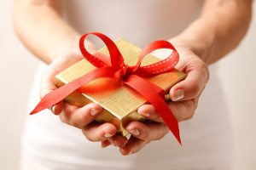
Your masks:
[{"label": "part of right hand beneath its thumb, right of the ribbon tail", "polygon": [[194,116],[197,103],[198,97],[186,101],[171,102],[169,107],[176,117],[177,122],[182,122],[191,119]]}]

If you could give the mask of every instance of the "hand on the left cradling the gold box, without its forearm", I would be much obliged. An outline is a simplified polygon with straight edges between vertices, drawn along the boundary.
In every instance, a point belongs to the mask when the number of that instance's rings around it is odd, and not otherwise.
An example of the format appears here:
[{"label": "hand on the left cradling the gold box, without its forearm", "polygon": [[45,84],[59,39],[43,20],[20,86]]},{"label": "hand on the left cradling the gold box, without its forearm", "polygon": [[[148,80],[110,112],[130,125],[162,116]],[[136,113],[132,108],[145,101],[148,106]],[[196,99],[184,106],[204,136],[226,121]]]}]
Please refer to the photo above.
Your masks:
[{"label": "hand on the left cradling the gold box, without its forearm", "polygon": [[[41,80],[41,98],[57,87],[54,84],[55,75],[67,69],[69,66],[83,59],[81,54],[65,54],[57,57],[44,72]],[[117,128],[111,123],[99,124],[93,122],[101,111],[101,105],[90,103],[83,107],[70,105],[66,101],[61,101],[53,105],[50,110],[58,115],[61,122],[65,122],[73,127],[78,127],[84,133],[84,136],[90,141],[111,141],[112,144],[119,148],[125,147],[127,139],[119,135],[115,135]],[[104,143],[104,142],[103,142]],[[102,145],[104,147],[104,145]]]}]

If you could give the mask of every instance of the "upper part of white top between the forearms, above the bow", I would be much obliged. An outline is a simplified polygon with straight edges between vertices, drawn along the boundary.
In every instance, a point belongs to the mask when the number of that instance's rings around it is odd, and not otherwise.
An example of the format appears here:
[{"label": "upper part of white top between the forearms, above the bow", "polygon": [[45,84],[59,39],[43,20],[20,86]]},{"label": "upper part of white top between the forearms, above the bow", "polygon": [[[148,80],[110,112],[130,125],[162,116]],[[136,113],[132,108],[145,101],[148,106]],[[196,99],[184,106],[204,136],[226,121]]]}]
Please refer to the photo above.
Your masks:
[{"label": "upper part of white top between the forearms, above the bow", "polygon": [[67,20],[79,32],[100,31],[143,48],[171,38],[195,20],[201,0],[76,0],[66,1]]}]

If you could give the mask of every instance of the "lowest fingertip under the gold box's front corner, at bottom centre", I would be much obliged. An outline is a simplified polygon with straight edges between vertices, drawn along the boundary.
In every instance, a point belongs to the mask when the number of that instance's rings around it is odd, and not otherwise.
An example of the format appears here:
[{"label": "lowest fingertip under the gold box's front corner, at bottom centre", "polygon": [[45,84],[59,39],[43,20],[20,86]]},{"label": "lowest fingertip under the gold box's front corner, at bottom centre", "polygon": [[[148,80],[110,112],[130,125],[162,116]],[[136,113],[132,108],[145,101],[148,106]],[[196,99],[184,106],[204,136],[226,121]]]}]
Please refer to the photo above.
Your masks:
[{"label": "lowest fingertip under the gold box's front corner, at bottom centre", "polygon": [[128,143],[124,148],[120,148],[119,151],[123,156],[131,155],[137,153],[139,150],[143,148],[150,141],[145,141],[142,139],[137,139],[133,136],[129,139]]}]

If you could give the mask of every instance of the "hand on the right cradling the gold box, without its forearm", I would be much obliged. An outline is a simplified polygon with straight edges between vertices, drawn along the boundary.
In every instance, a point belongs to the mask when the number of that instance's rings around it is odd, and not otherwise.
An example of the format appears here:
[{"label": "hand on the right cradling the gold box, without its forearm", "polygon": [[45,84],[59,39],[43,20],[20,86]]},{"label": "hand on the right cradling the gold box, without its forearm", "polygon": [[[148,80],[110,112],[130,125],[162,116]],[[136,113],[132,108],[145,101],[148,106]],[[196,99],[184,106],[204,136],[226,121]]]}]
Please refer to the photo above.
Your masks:
[{"label": "hand on the right cradling the gold box, without its forearm", "polygon": [[[187,77],[170,89],[172,102],[169,107],[178,122],[192,118],[195,114],[198,99],[209,79],[207,65],[189,48],[176,46],[180,60],[176,68],[187,74]],[[137,153],[152,140],[162,139],[169,132],[165,122],[154,110],[153,105],[142,105],[137,112],[153,122],[130,122],[125,128],[131,138],[119,151],[122,155]]]}]

